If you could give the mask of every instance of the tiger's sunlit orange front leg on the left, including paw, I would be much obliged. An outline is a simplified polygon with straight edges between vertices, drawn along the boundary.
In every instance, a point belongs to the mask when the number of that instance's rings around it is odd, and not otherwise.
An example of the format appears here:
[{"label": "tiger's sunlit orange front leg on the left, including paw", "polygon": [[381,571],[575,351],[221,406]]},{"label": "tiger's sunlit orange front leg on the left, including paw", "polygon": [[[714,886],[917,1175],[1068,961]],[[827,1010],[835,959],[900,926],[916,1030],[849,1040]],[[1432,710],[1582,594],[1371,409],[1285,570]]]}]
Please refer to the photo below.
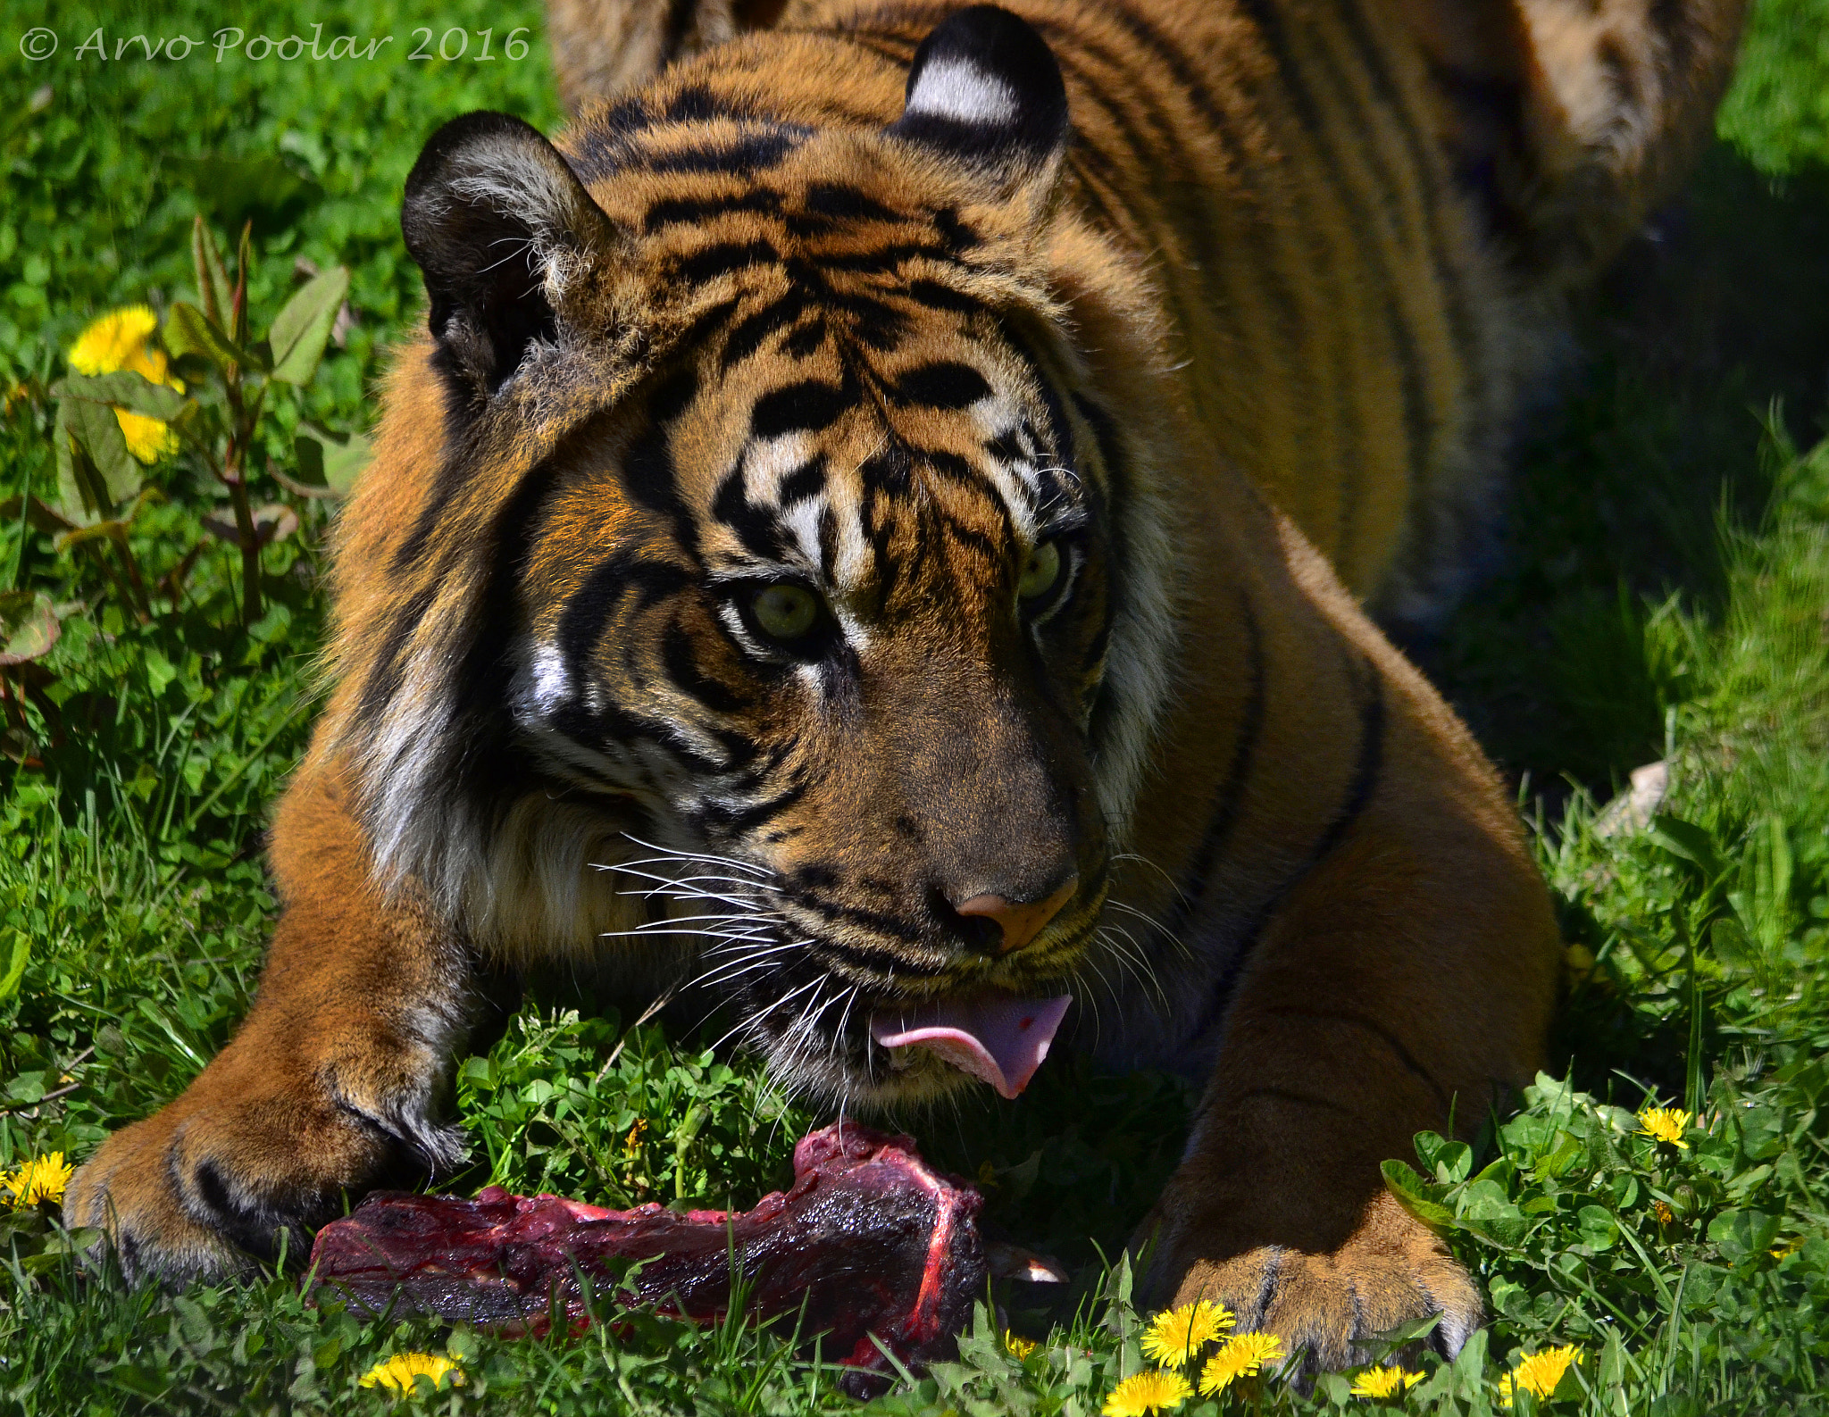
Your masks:
[{"label": "tiger's sunlit orange front leg on the left, including paw", "polygon": [[282,1231],[300,1256],[298,1227],[338,1214],[346,1190],[463,1161],[435,1108],[468,1033],[466,951],[380,900],[322,768],[287,794],[273,865],[285,912],[241,1029],[71,1179],[68,1223],[106,1227],[130,1276],[245,1271]]}]

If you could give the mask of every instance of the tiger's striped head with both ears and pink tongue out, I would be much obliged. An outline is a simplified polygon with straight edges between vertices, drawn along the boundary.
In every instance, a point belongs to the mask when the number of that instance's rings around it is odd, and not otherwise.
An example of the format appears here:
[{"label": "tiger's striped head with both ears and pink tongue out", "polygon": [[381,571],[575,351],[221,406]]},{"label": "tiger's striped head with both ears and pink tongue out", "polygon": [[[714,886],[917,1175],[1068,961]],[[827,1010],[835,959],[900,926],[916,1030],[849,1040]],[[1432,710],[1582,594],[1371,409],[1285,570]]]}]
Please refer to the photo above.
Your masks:
[{"label": "tiger's striped head with both ears and pink tongue out", "polygon": [[1165,678],[1161,532],[1066,336],[1061,77],[989,7],[887,123],[713,59],[563,148],[459,119],[408,179],[430,342],[338,570],[358,810],[497,949],[651,887],[620,932],[691,938],[792,1086],[935,1095],[938,1053],[1013,1093]]}]

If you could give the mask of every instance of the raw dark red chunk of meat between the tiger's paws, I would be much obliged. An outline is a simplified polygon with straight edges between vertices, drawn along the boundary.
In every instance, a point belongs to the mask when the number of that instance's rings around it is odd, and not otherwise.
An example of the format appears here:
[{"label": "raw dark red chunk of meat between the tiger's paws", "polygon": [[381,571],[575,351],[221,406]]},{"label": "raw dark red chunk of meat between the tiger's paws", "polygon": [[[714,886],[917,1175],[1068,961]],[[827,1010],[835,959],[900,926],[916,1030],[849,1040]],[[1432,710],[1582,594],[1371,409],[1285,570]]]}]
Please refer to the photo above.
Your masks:
[{"label": "raw dark red chunk of meat between the tiger's paws", "polygon": [[497,1329],[543,1329],[554,1304],[585,1322],[578,1273],[609,1280],[609,1260],[647,1260],[624,1298],[715,1320],[730,1302],[732,1256],[750,1313],[801,1315],[825,1353],[885,1368],[874,1333],[905,1364],[951,1357],[984,1294],[977,1216],[984,1198],[929,1170],[914,1141],[856,1124],[794,1148],[794,1185],[754,1210],[660,1205],[604,1210],[558,1196],[476,1199],[377,1192],[318,1231],[316,1282],[380,1313],[390,1304]]}]

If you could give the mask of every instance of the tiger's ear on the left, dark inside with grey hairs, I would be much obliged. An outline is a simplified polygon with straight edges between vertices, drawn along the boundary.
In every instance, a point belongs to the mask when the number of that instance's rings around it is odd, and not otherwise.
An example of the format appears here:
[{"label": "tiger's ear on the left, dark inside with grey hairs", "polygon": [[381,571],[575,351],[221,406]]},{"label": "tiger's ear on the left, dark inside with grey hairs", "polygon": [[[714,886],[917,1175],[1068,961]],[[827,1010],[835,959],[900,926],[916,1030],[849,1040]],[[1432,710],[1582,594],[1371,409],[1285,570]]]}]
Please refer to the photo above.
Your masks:
[{"label": "tiger's ear on the left, dark inside with grey hairs", "polygon": [[554,302],[609,219],[538,130],[507,113],[439,128],[406,177],[406,250],[426,278],[446,368],[481,397],[558,333]]}]

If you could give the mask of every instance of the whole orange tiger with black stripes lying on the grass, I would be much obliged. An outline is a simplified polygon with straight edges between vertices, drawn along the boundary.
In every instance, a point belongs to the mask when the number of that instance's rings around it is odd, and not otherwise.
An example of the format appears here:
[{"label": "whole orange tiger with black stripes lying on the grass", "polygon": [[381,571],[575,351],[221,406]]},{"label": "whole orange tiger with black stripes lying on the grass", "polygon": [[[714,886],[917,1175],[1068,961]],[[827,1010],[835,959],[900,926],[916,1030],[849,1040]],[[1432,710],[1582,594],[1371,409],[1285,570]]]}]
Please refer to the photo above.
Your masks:
[{"label": "whole orange tiger with black stripes lying on the grass", "polygon": [[1480,1289],[1381,1181],[1544,1060],[1507,790],[1394,645],[1739,0],[551,0],[404,185],[424,327],[232,1040],[70,1185],[130,1276],[452,1176],[540,965],[858,1115],[1191,1081],[1136,1298],[1313,1373]]}]

